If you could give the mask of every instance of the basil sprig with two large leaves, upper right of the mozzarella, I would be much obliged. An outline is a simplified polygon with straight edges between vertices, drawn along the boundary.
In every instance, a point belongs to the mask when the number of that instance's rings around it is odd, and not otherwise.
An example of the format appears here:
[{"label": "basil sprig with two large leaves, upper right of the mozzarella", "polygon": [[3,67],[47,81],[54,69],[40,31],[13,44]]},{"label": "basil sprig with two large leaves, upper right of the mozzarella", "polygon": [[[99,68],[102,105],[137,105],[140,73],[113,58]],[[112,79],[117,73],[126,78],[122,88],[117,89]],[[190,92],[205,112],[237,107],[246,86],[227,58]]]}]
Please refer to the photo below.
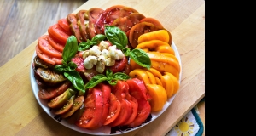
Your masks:
[{"label": "basil sprig with two large leaves, upper right of the mozzarella", "polygon": [[113,45],[116,45],[117,48],[122,50],[122,52],[125,54],[125,56],[129,56],[131,59],[133,59],[138,65],[141,65],[146,68],[150,68],[151,61],[146,52],[143,51],[143,49],[135,48],[130,49],[127,48],[128,44],[128,38],[126,37],[126,34],[124,31],[121,31],[119,27],[117,26],[105,26],[105,35],[109,42],[111,42]]}]

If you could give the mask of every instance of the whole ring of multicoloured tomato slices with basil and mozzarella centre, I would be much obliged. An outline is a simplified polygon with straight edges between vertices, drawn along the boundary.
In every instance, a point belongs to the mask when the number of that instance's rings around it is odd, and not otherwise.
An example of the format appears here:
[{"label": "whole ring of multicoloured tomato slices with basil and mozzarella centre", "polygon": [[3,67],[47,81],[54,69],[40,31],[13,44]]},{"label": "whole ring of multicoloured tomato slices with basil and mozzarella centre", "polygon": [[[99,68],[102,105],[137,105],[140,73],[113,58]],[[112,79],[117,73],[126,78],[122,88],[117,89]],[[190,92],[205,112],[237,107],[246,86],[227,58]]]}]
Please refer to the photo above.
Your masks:
[{"label": "whole ring of multicoloured tomato slices with basil and mozzarella centre", "polygon": [[133,8],[68,14],[38,38],[38,97],[78,127],[138,127],[177,93],[180,67],[171,45],[158,20]]}]

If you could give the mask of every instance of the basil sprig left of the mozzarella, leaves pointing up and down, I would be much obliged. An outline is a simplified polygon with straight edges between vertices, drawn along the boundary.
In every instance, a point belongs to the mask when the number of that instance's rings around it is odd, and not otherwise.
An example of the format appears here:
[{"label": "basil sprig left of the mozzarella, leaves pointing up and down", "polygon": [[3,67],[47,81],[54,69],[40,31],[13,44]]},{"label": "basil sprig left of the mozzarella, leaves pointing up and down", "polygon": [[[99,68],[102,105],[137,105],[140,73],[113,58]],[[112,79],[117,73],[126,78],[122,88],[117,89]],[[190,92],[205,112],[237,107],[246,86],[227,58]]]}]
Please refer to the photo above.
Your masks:
[{"label": "basil sprig left of the mozzarella, leaves pointing up and down", "polygon": [[75,71],[78,66],[71,61],[77,52],[77,38],[74,36],[68,37],[65,48],[62,52],[62,65],[55,65],[55,71],[63,72],[64,76],[67,77],[70,82],[72,82],[74,88],[82,91],[82,93],[79,92],[79,94],[84,94],[84,81],[82,77],[80,77],[79,72]]}]

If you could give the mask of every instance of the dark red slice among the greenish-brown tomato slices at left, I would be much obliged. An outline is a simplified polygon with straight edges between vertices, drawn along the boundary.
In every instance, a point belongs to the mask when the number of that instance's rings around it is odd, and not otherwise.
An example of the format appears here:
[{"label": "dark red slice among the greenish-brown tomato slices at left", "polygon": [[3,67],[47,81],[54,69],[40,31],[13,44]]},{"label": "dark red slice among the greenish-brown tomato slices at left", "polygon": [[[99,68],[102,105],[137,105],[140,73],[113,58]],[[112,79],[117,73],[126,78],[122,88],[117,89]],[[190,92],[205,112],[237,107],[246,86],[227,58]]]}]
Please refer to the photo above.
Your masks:
[{"label": "dark red slice among the greenish-brown tomato slices at left", "polygon": [[39,88],[38,97],[40,99],[53,99],[56,96],[62,94],[71,86],[71,82],[67,81],[57,87]]}]

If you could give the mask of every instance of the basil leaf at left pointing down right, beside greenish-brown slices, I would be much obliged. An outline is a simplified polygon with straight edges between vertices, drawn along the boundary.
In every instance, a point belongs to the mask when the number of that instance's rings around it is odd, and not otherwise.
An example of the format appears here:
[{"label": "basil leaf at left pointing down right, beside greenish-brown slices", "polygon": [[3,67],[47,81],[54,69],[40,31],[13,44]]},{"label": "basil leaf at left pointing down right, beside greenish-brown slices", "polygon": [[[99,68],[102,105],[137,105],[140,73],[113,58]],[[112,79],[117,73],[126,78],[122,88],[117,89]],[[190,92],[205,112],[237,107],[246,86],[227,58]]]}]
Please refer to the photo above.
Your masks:
[{"label": "basil leaf at left pointing down right, beside greenish-brown slices", "polygon": [[72,82],[74,88],[85,93],[84,81],[82,77],[80,77],[78,71],[66,71],[64,72],[64,76],[67,77],[70,82]]}]

